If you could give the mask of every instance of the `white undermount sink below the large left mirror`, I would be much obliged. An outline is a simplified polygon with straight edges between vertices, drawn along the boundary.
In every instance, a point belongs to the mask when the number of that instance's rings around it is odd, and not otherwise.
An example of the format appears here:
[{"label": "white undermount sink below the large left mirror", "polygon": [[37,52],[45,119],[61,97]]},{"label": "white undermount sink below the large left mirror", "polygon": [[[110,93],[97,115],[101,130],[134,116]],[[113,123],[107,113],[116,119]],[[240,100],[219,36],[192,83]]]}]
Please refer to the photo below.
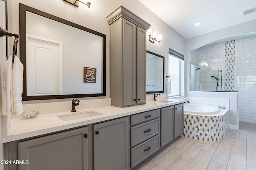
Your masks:
[{"label": "white undermount sink below the large left mirror", "polygon": [[70,113],[67,115],[58,115],[57,117],[62,119],[62,121],[70,121],[70,120],[98,116],[98,115],[102,115],[102,113],[98,113],[96,111],[83,111],[78,113]]}]

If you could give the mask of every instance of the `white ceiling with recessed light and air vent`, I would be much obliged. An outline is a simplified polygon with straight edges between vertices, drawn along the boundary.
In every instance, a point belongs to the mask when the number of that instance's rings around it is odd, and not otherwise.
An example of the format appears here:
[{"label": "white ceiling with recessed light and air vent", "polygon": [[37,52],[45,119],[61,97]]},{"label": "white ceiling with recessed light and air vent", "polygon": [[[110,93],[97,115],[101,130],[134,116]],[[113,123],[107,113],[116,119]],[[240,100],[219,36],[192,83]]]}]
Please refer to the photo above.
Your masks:
[{"label": "white ceiling with recessed light and air vent", "polygon": [[256,12],[241,14],[256,7],[256,0],[139,1],[186,39],[256,19]]}]

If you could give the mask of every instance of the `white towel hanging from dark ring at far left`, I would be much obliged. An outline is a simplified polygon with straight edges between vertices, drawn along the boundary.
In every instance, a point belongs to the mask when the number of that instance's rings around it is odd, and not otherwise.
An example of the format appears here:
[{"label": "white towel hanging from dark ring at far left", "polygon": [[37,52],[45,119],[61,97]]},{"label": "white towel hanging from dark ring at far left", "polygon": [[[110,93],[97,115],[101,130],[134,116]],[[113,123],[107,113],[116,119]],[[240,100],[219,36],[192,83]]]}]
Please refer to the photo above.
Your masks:
[{"label": "white towel hanging from dark ring at far left", "polygon": [[20,115],[23,113],[22,90],[23,90],[23,65],[18,57],[12,56],[4,64],[4,76],[6,81],[6,113]]}]

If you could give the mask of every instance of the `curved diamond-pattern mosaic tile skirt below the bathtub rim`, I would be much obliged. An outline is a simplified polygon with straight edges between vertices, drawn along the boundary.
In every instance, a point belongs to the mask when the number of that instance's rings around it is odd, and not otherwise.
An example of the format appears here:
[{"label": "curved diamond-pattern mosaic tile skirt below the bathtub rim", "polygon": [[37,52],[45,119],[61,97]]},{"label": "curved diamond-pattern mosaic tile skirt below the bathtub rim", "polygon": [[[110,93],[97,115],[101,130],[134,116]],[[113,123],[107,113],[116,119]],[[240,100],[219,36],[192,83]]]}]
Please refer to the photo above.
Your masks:
[{"label": "curved diamond-pattern mosaic tile skirt below the bathtub rim", "polygon": [[184,114],[184,137],[199,141],[221,141],[228,130],[229,111],[220,116]]}]

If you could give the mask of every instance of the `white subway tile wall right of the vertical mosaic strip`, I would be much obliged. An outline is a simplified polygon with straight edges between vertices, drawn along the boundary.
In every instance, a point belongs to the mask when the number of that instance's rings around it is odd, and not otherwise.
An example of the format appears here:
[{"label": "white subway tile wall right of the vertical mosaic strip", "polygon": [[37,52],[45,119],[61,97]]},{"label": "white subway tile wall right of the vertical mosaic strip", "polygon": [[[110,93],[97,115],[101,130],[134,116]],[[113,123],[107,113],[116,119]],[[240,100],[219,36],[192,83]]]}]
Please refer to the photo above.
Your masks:
[{"label": "white subway tile wall right of the vertical mosaic strip", "polygon": [[239,121],[256,123],[256,35],[236,39],[235,78]]}]

